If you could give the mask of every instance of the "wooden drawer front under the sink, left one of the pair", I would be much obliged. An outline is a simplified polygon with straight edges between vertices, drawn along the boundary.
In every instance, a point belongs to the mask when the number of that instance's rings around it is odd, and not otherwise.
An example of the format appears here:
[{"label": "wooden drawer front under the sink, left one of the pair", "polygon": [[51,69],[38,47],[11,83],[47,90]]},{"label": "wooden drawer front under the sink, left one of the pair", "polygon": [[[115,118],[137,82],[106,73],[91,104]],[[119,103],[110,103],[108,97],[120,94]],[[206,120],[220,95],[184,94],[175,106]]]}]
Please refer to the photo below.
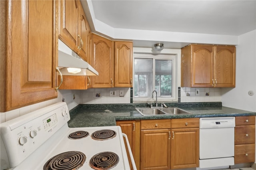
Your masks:
[{"label": "wooden drawer front under the sink, left one of the pair", "polygon": [[170,119],[141,120],[140,125],[141,125],[141,130],[171,128],[171,120]]}]

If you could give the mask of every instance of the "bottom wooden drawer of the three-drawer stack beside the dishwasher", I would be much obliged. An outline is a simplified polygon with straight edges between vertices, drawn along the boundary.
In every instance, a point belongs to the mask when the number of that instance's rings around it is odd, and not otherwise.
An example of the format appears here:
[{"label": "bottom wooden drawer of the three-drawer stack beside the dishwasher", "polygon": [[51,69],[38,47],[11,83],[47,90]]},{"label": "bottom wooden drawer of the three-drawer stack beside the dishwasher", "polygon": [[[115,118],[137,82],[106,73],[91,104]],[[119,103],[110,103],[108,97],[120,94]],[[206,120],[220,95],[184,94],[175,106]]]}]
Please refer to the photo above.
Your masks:
[{"label": "bottom wooden drawer of the three-drawer stack beside the dishwasher", "polygon": [[255,144],[235,145],[235,164],[254,162]]}]

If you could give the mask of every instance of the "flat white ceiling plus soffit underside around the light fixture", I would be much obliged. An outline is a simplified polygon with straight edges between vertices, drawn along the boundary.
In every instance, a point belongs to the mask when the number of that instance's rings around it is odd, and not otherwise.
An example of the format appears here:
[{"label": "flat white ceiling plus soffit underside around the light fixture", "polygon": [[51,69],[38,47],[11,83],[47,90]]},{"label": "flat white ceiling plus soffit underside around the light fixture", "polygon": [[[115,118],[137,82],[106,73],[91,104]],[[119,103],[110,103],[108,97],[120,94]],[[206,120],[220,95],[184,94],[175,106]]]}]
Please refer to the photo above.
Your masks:
[{"label": "flat white ceiling plus soffit underside around the light fixture", "polygon": [[256,0],[92,0],[92,6],[96,20],[112,28],[228,36],[256,29]]}]

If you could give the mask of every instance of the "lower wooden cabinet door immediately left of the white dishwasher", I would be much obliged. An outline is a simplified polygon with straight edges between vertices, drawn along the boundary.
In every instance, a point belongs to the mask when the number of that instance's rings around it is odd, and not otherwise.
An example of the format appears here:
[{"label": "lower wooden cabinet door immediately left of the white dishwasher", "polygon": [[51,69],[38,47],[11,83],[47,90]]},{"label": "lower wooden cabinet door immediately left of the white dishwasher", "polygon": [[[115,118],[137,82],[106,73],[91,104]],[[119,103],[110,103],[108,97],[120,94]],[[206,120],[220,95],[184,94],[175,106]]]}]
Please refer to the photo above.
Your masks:
[{"label": "lower wooden cabinet door immediately left of the white dishwasher", "polygon": [[171,169],[199,166],[199,128],[172,129]]}]

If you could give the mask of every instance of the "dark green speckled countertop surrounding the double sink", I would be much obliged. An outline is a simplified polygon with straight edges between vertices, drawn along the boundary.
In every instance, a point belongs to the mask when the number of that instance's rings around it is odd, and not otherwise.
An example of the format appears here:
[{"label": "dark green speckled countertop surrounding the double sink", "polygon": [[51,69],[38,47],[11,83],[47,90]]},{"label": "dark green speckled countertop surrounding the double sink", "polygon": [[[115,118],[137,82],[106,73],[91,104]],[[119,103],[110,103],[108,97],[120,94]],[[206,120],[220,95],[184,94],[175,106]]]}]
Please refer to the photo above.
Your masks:
[{"label": "dark green speckled countertop surrounding the double sink", "polygon": [[223,107],[221,102],[212,103],[166,103],[168,107],[179,107],[191,114],[142,116],[135,108],[146,104],[78,105],[70,111],[69,127],[115,126],[118,120],[136,119],[180,119],[195,117],[231,117],[256,115],[255,112]]}]

